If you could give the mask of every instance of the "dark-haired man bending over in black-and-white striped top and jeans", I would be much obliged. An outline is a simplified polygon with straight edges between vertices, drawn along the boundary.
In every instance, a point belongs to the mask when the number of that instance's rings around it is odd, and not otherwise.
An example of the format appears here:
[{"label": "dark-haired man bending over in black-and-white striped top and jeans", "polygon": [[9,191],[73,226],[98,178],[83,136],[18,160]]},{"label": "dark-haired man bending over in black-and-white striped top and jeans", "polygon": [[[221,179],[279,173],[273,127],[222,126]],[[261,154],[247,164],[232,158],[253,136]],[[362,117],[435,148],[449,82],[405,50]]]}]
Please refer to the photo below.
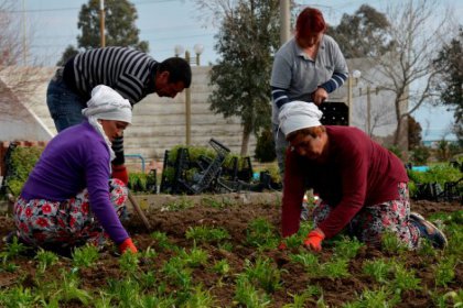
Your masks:
[{"label": "dark-haired man bending over in black-and-white striped top and jeans", "polygon": [[[82,122],[82,109],[98,85],[111,87],[133,107],[154,92],[174,98],[190,87],[191,79],[190,64],[180,57],[158,63],[146,53],[128,47],[95,48],[77,54],[56,70],[49,84],[46,103],[61,132]],[[112,150],[116,154],[112,176],[127,184],[123,138],[112,142]]]}]

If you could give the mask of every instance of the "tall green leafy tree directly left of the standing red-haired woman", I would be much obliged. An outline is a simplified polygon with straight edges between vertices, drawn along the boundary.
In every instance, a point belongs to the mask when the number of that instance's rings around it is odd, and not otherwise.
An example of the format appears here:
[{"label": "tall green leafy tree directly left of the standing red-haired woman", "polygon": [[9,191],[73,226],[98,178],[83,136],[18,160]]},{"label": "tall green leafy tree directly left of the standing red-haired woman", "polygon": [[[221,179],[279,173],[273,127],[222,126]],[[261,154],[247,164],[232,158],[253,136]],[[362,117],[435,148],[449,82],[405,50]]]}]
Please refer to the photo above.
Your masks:
[{"label": "tall green leafy tree directly left of the standing red-haired woman", "polygon": [[240,0],[224,15],[215,50],[222,56],[211,70],[211,110],[239,117],[241,155],[251,133],[270,125],[270,73],[279,46],[279,1]]}]

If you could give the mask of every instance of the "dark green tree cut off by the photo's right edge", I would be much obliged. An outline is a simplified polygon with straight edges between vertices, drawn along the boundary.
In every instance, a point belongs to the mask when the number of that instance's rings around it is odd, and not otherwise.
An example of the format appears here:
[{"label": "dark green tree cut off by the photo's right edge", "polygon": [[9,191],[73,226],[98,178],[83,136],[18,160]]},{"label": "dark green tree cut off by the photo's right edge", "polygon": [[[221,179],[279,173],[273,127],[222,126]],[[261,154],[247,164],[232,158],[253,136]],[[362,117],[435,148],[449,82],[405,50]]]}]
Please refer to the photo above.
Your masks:
[{"label": "dark green tree cut off by the photo's right edge", "polygon": [[460,25],[457,35],[439,52],[435,65],[441,68],[440,103],[454,108],[454,132],[463,146],[463,26]]}]

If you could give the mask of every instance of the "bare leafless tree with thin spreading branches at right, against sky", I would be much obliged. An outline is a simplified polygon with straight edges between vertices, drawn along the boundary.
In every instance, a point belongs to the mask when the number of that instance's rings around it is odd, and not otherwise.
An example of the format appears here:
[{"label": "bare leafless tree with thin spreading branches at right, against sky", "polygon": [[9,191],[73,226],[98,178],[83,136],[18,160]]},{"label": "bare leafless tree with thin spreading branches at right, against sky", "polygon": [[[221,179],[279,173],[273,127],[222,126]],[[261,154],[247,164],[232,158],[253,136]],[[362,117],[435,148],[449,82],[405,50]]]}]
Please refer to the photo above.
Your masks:
[{"label": "bare leafless tree with thin spreading branches at right, against sky", "polygon": [[[388,33],[392,51],[376,58],[380,73],[388,80],[383,86],[392,94],[397,129],[394,138],[399,145],[407,117],[423,102],[437,96],[433,80],[440,73],[433,65],[442,44],[455,25],[451,12],[438,0],[407,0],[387,8]],[[453,29],[452,29],[453,28]]]}]

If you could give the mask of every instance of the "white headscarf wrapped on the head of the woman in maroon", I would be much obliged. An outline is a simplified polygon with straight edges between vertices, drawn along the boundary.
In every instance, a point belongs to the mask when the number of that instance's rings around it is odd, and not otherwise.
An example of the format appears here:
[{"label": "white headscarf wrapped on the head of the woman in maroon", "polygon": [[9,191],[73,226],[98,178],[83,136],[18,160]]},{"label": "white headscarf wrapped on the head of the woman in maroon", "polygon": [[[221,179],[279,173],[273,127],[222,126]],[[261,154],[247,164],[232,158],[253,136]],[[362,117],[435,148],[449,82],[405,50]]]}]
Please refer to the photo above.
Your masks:
[{"label": "white headscarf wrapped on the head of the woman in maroon", "polygon": [[280,129],[288,136],[294,131],[320,127],[323,112],[313,102],[294,100],[283,105],[278,119]]}]

